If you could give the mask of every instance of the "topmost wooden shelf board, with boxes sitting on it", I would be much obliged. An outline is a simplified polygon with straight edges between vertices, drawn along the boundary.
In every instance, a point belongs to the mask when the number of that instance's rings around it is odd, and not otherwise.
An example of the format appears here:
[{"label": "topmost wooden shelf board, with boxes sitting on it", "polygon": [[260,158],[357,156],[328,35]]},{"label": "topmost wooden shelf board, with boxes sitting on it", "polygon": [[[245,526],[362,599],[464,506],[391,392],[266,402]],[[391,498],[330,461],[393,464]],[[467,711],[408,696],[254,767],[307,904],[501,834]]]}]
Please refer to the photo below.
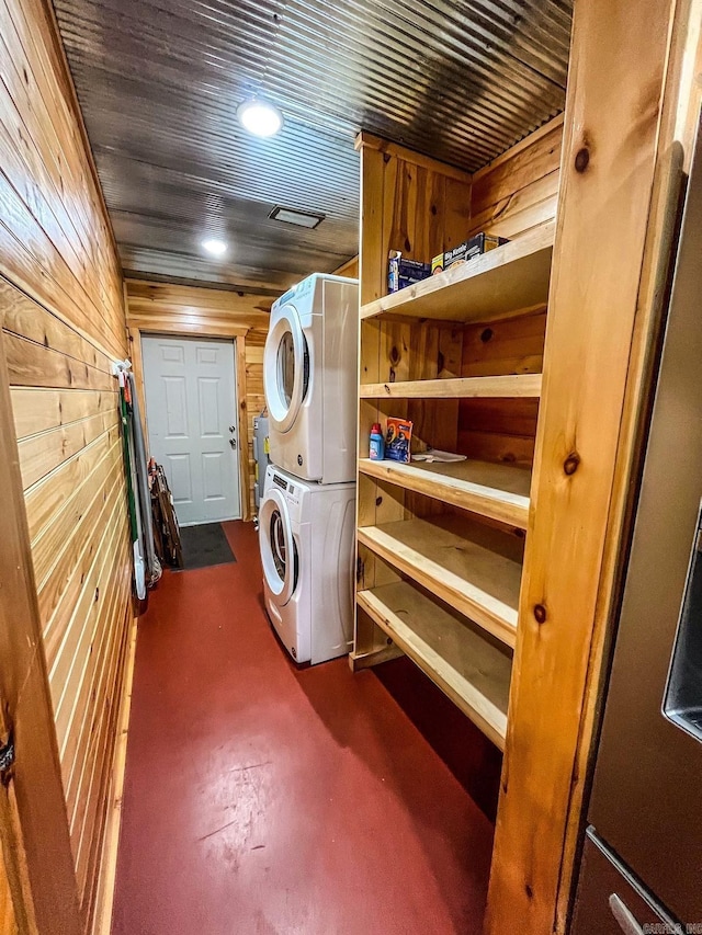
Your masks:
[{"label": "topmost wooden shelf board, with boxes sitting on it", "polygon": [[361,306],[361,318],[396,312],[446,321],[495,321],[548,300],[555,224]]}]

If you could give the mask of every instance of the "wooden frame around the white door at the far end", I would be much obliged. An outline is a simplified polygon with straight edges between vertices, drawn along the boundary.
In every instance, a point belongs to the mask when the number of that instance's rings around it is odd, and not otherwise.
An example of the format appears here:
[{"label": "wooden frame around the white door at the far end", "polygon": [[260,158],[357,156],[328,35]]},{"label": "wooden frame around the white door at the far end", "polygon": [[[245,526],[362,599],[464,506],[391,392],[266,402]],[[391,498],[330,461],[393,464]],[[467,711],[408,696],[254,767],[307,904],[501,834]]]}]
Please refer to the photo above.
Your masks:
[{"label": "wooden frame around the white door at the far end", "polygon": [[148,421],[146,415],[146,394],[144,391],[144,358],[141,355],[141,339],[144,335],[159,334],[180,339],[234,341],[234,376],[237,392],[237,429],[239,438],[239,499],[242,522],[251,518],[249,505],[251,500],[249,483],[249,413],[246,401],[246,335],[248,331],[248,328],[237,328],[236,326],[226,323],[206,324],[204,327],[196,326],[192,329],[188,329],[180,323],[172,326],[159,323],[138,324],[128,328],[132,369],[136,379],[136,391],[144,420],[144,437],[147,440]]}]

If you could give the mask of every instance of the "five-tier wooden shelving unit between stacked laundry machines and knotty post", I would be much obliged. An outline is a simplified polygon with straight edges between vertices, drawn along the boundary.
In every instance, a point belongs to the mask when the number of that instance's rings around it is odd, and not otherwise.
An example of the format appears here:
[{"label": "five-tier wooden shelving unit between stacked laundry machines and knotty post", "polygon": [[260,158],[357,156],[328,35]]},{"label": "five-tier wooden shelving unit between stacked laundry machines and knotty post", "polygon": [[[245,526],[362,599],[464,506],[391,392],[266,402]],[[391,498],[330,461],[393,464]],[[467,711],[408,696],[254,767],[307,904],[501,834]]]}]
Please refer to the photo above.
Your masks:
[{"label": "five-tier wooden shelving unit between stacked laundry machines and knotty post", "polygon": [[[401,650],[502,749],[553,215],[462,266],[384,295],[388,249],[427,259],[474,232],[466,220],[473,180],[423,157],[419,169],[412,153],[382,151],[374,139],[361,137],[360,148],[359,561],[350,661],[382,664]],[[423,214],[409,209],[429,192],[437,197],[422,202]],[[412,422],[416,451],[465,460],[371,460],[370,427],[388,415]]]}]

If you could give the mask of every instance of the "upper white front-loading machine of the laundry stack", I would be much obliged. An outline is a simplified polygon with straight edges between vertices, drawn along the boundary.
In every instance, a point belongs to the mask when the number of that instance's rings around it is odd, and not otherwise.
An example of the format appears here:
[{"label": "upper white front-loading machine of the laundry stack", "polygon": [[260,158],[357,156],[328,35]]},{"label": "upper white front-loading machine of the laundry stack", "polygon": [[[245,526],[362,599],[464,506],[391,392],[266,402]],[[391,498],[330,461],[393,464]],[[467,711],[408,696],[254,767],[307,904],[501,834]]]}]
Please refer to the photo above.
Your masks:
[{"label": "upper white front-loading machine of the laundry stack", "polygon": [[355,479],[359,284],[315,273],[271,309],[263,354],[271,460],[305,480]]}]

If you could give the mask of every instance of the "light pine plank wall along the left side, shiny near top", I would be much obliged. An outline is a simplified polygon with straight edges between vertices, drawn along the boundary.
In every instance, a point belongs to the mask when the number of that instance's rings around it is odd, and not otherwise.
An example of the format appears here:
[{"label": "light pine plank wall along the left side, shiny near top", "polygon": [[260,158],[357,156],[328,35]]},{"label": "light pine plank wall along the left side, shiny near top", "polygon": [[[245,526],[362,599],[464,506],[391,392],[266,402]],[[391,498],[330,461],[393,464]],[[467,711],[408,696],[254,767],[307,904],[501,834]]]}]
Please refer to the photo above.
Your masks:
[{"label": "light pine plank wall along the left side, shiny near top", "polygon": [[0,0],[0,312],[83,922],[131,608],[122,275],[53,12]]}]

